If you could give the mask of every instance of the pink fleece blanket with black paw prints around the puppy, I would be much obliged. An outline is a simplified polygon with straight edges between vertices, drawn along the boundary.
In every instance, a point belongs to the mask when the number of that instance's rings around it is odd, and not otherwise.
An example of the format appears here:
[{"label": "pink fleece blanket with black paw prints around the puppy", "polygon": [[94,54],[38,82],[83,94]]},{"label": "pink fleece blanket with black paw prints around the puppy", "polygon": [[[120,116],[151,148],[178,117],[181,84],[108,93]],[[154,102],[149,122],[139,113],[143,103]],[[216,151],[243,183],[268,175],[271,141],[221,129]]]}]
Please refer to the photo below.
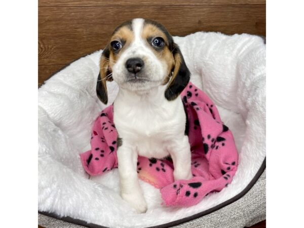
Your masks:
[{"label": "pink fleece blanket with black paw prints around the puppy", "polygon": [[[238,166],[233,135],[209,97],[192,83],[181,97],[187,113],[193,178],[174,181],[170,157],[159,160],[139,156],[137,163],[138,177],[160,188],[166,206],[192,206],[207,194],[221,191],[231,183]],[[94,176],[117,168],[117,144],[111,105],[94,123],[91,150],[81,154],[85,170]]]}]

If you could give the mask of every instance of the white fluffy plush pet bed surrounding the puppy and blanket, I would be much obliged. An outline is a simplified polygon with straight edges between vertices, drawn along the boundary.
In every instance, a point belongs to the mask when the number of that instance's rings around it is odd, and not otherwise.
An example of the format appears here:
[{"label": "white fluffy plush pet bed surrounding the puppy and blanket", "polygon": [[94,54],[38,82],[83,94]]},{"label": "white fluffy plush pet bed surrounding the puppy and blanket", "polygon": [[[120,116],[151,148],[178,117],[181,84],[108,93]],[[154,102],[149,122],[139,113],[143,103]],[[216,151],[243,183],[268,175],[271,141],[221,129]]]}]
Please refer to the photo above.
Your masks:
[{"label": "white fluffy plush pet bed surrounding the puppy and blanket", "polygon": [[[215,102],[222,121],[234,134],[239,167],[233,182],[193,207],[170,208],[161,206],[159,189],[140,181],[148,210],[136,214],[119,195],[117,169],[88,179],[79,154],[90,149],[91,126],[105,107],[96,96],[101,54],[97,51],[74,61],[39,89],[40,213],[89,227],[168,227],[191,222],[246,196],[265,166],[265,44],[254,35],[214,32],[174,37],[174,41],[192,73],[191,81]],[[118,86],[115,82],[107,86],[111,104]],[[238,206],[250,207],[247,204]],[[264,207],[257,198],[250,204]],[[264,213],[264,208],[260,210]],[[212,225],[209,220],[210,226],[201,222],[198,227],[247,225],[238,218],[220,223],[225,216],[229,215],[222,211],[213,218],[217,223]]]}]

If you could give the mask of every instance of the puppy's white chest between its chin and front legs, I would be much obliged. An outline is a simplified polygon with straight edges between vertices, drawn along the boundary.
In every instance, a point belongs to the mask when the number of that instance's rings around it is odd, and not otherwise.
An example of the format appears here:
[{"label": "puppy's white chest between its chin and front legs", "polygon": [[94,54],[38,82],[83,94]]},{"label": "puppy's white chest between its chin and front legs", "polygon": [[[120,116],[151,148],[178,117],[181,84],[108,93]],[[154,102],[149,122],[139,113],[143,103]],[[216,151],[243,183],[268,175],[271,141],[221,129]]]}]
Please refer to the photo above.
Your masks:
[{"label": "puppy's white chest between its chin and front legs", "polygon": [[[180,108],[114,105],[114,122],[123,143],[133,147],[140,156],[164,158],[168,146],[185,128],[185,113]],[[179,105],[178,105],[179,106]]]}]

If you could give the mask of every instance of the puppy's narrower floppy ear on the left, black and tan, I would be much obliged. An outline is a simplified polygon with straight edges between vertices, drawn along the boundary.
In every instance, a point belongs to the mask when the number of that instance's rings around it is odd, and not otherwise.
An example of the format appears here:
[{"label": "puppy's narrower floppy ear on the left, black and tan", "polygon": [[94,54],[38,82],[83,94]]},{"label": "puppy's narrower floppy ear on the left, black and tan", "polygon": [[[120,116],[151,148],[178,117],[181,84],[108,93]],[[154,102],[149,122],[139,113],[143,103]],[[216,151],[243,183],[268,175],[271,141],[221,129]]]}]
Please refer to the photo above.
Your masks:
[{"label": "puppy's narrower floppy ear on the left, black and tan", "polygon": [[113,81],[111,77],[111,70],[109,67],[109,57],[110,51],[109,46],[107,45],[103,50],[100,58],[100,71],[97,78],[97,86],[96,86],[96,93],[97,97],[102,101],[102,103],[107,104],[108,97],[107,97],[107,89],[106,89],[106,81]]}]

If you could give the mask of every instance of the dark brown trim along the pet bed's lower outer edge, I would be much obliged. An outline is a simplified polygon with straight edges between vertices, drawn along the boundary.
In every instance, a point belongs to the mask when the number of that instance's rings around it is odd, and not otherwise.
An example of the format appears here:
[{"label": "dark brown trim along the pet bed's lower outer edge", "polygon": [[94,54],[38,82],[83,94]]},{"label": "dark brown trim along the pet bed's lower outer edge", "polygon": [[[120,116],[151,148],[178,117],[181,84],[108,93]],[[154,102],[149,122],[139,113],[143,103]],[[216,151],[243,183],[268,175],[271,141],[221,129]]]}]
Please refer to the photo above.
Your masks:
[{"label": "dark brown trim along the pet bed's lower outer edge", "polygon": [[[264,161],[262,162],[262,165],[261,167],[259,168],[259,170],[257,171],[257,173],[255,174],[255,176],[252,178],[252,180],[250,181],[250,183],[243,189],[242,192],[240,192],[238,195],[234,196],[233,198],[215,206],[215,207],[212,207],[206,211],[202,211],[200,213],[197,213],[195,215],[192,215],[192,216],[189,216],[189,217],[185,217],[185,218],[182,218],[182,219],[178,219],[178,220],[175,220],[175,221],[172,221],[172,222],[168,222],[168,223],[165,223],[165,224],[162,224],[162,225],[156,225],[156,226],[149,226],[147,228],[167,228],[167,227],[172,227],[174,225],[179,225],[181,223],[184,223],[184,222],[188,222],[188,221],[191,221],[191,220],[194,220],[194,219],[197,219],[197,218],[200,218],[202,216],[205,216],[207,214],[210,214],[214,211],[217,211],[229,204],[232,204],[233,202],[241,199],[244,195],[246,195],[249,190],[253,187],[253,185],[256,183],[256,181],[258,180],[258,178],[262,175],[262,173],[264,172],[266,168],[266,158],[264,158]],[[78,225],[83,225],[83,226],[86,226],[86,227],[90,227],[90,228],[108,228],[107,226],[102,226],[102,225],[97,225],[97,224],[93,224],[93,223],[87,223],[86,221],[83,221],[83,220],[80,220],[80,219],[76,219],[76,218],[71,218],[71,217],[59,217],[57,214],[55,213],[49,213],[49,212],[42,212],[42,211],[39,211],[40,214],[43,214],[43,215],[46,215],[46,216],[49,216],[49,217],[52,217],[52,218],[56,218],[56,219],[59,219],[59,220],[62,220],[62,221],[66,221],[66,222],[70,222],[70,223],[74,223],[74,224],[78,224]]]}]

